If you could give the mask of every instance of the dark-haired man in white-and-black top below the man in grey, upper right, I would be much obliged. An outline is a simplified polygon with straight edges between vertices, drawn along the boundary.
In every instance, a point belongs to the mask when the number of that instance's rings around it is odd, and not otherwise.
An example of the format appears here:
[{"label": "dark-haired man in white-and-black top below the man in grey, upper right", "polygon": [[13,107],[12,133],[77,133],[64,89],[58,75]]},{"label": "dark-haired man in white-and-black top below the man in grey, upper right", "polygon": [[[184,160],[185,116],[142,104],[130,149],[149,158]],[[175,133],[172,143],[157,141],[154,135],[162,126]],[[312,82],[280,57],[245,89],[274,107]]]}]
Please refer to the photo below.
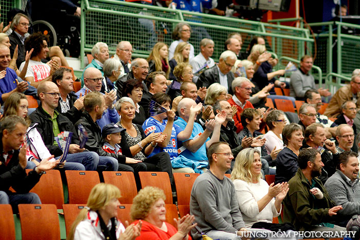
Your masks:
[{"label": "dark-haired man in white-and-black top below the man in grey, upper right", "polygon": [[322,105],[321,95],[319,92],[315,89],[309,89],[305,92],[304,99],[305,103],[312,104],[316,108],[317,117],[315,122],[321,123],[325,127],[326,137],[335,137],[336,126],[338,124],[331,121],[328,116],[319,113]]}]

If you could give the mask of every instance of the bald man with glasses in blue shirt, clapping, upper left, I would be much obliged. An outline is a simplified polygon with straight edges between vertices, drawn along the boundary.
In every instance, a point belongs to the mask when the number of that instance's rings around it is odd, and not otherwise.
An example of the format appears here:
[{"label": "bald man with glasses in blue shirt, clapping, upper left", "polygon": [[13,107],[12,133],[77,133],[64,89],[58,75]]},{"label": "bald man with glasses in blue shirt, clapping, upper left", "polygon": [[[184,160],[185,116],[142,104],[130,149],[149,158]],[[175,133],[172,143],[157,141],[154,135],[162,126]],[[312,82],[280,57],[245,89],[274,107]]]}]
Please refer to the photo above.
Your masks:
[{"label": "bald man with glasses in blue shirt, clapping, upper left", "polygon": [[[102,86],[102,73],[99,69],[95,67],[86,68],[84,71],[84,87],[81,88],[75,95],[78,98],[85,96],[91,91],[100,91]],[[113,89],[110,93],[101,93],[105,98],[105,105],[107,110],[104,111],[104,114],[101,119],[97,120],[97,124],[102,128],[109,123],[117,123],[119,121],[119,114],[116,112],[114,103],[116,100],[116,91]]]}]

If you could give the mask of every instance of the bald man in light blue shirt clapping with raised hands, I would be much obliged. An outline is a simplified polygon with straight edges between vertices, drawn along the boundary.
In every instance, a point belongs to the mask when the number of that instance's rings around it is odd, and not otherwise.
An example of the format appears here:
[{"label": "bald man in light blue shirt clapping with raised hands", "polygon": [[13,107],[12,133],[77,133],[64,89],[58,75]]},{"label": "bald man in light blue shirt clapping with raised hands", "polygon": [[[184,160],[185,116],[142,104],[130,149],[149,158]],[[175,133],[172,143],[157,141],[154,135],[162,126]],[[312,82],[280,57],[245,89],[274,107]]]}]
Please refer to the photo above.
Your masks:
[{"label": "bald man in light blue shirt clapping with raised hands", "polygon": [[[189,121],[189,109],[191,106],[196,106],[196,103],[190,98],[184,98],[177,105],[179,118],[174,122],[174,124],[183,128],[183,130],[185,130],[185,127]],[[205,124],[205,131],[199,123],[195,122],[190,138],[184,141],[179,141],[179,150],[181,151],[179,154],[194,161],[203,161],[208,163],[206,149],[212,143],[219,141],[221,124],[225,121],[225,119],[226,113],[222,111],[222,113],[218,114],[214,119],[209,120]],[[209,136],[211,133],[212,136],[210,139]]]}]

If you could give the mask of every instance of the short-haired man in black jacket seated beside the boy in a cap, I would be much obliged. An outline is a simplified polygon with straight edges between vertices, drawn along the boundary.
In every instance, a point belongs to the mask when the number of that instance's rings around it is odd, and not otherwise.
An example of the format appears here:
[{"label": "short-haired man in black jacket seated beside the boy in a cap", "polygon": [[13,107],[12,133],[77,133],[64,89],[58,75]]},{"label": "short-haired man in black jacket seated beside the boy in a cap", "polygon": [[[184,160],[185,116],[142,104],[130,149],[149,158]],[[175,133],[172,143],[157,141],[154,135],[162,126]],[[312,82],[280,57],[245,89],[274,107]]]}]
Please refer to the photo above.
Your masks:
[{"label": "short-haired man in black jacket seated beside the boy in a cap", "polygon": [[100,162],[105,160],[116,162],[118,168],[116,168],[115,171],[146,171],[146,165],[140,160],[128,158],[124,155],[107,153],[102,149],[103,140],[101,137],[101,129],[96,123],[96,120],[102,117],[105,110],[105,100],[101,93],[98,91],[88,93],[84,98],[84,108],[85,110],[75,126],[77,127],[81,124],[87,132],[88,139],[85,144],[85,149],[99,154]]}]

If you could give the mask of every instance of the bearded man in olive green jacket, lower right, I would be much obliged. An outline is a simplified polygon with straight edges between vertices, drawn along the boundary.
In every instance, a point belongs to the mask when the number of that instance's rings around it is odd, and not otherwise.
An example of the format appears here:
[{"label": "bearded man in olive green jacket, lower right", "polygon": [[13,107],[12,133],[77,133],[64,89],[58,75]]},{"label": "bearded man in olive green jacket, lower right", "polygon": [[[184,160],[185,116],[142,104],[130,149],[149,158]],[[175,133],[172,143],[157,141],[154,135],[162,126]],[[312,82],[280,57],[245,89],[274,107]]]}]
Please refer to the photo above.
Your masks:
[{"label": "bearded man in olive green jacket, lower right", "polygon": [[299,170],[290,179],[289,193],[283,200],[284,222],[292,223],[297,231],[345,232],[346,228],[329,223],[336,220],[333,216],[343,207],[335,206],[317,178],[323,167],[320,153],[315,149],[304,149],[298,162]]}]

